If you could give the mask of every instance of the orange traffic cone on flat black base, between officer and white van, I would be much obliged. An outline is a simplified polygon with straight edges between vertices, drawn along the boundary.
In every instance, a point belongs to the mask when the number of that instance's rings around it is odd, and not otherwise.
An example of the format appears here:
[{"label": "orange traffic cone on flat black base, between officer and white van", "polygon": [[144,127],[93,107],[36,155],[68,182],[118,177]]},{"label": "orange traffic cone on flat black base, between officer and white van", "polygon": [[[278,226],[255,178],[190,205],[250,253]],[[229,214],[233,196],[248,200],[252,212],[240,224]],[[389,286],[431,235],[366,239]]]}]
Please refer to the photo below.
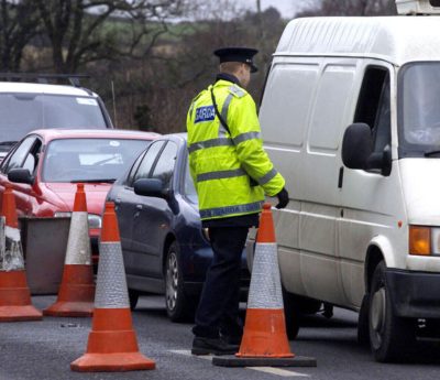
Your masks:
[{"label": "orange traffic cone on flat black base, between officer and white van", "polygon": [[290,351],[270,204],[263,206],[260,218],[240,350],[235,357],[215,357],[212,363],[224,367],[316,367],[315,358],[298,357]]}]

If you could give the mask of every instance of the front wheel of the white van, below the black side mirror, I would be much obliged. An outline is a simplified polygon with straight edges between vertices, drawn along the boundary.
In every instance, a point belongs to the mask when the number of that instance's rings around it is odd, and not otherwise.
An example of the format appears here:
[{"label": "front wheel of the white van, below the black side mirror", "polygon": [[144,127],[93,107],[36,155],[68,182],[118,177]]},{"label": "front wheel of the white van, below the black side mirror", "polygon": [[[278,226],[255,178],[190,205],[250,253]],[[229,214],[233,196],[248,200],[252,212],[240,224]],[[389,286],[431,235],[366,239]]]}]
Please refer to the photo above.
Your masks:
[{"label": "front wheel of the white van, below the black side mirror", "polygon": [[374,358],[381,362],[406,359],[415,347],[415,322],[395,315],[385,282],[385,263],[373,273],[369,302],[370,343]]}]

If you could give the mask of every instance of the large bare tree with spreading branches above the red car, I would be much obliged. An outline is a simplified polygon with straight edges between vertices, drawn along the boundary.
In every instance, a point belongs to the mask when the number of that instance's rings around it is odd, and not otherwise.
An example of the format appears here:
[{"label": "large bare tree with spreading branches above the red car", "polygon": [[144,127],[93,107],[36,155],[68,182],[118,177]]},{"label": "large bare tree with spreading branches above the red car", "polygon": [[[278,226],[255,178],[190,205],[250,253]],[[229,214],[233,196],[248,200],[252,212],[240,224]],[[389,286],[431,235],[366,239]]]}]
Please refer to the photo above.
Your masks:
[{"label": "large bare tree with spreading branches above the red car", "polygon": [[80,66],[99,59],[145,55],[157,36],[166,32],[165,20],[179,14],[185,4],[185,0],[34,2],[51,41],[57,73],[75,73]]}]

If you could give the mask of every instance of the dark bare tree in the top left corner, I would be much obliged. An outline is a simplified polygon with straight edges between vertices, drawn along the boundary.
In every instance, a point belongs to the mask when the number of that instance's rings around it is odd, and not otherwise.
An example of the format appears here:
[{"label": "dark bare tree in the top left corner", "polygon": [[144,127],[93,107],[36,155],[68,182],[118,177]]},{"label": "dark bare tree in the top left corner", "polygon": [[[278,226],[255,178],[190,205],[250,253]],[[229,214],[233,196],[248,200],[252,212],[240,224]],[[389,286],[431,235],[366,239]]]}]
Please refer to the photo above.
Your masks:
[{"label": "dark bare tree in the top left corner", "polygon": [[0,1],[0,69],[18,72],[24,47],[38,34],[40,18],[35,2]]}]

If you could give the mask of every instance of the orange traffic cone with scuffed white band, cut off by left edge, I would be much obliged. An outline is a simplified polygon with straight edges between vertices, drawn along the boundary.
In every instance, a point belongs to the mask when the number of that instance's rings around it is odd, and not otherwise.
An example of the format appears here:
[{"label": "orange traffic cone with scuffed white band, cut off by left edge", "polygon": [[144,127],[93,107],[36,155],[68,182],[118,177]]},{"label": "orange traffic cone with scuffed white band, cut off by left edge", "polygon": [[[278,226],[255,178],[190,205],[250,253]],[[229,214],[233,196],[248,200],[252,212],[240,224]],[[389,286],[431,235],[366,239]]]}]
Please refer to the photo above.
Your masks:
[{"label": "orange traffic cone with scuffed white band, cut off by left edge", "polygon": [[12,186],[4,187],[0,224],[0,321],[41,321],[43,315],[32,305],[28,287],[15,198]]}]

